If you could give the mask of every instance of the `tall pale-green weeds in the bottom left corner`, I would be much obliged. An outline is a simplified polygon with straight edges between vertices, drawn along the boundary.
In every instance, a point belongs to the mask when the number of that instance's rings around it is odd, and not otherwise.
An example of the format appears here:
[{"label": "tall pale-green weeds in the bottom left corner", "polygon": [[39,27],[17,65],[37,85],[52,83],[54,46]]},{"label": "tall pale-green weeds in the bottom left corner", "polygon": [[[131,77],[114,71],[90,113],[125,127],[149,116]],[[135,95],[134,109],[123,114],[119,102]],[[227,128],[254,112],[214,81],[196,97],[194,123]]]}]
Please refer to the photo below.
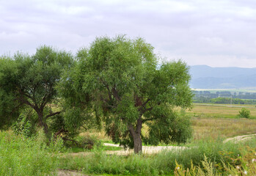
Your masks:
[{"label": "tall pale-green weeds in the bottom left corner", "polygon": [[42,133],[32,139],[0,131],[0,175],[56,175],[56,145],[47,147],[42,139]]}]

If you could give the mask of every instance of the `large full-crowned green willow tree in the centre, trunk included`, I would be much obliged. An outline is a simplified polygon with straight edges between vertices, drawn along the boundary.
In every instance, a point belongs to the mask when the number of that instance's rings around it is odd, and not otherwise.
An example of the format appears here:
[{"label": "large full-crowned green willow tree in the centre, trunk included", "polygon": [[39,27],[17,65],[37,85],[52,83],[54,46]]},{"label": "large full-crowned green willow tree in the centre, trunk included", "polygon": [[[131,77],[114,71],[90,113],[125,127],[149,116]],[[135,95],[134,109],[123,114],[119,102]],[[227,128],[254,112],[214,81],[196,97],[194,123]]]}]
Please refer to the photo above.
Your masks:
[{"label": "large full-crowned green willow tree in the centre, trunk included", "polygon": [[114,142],[134,147],[134,153],[142,152],[142,140],[186,142],[189,119],[173,110],[191,106],[185,63],[159,65],[152,45],[125,36],[97,38],[77,56],[78,65],[62,80],[64,98],[71,105],[80,101],[79,109],[92,108]]}]

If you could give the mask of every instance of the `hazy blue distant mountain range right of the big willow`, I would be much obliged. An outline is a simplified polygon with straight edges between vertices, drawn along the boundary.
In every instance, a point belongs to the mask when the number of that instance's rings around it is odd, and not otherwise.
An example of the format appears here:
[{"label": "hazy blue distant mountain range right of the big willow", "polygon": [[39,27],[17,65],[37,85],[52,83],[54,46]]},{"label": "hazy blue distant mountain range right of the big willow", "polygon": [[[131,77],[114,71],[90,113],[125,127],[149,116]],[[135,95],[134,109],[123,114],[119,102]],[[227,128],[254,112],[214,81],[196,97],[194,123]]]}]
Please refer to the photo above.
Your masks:
[{"label": "hazy blue distant mountain range right of the big willow", "polygon": [[256,87],[256,67],[190,67],[190,86],[194,89],[238,89]]}]

